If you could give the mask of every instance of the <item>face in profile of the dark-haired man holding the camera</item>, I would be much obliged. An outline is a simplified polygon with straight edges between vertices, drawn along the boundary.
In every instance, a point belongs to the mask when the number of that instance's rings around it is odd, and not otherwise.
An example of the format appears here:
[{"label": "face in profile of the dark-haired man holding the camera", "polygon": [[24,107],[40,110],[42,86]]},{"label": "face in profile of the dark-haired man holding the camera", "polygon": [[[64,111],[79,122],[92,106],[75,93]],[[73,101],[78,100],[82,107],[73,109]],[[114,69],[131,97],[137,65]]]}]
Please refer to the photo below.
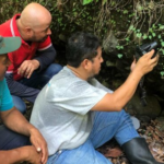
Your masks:
[{"label": "face in profile of the dark-haired man holding the camera", "polygon": [[95,77],[101,71],[101,63],[103,62],[102,58],[102,47],[97,48],[97,56],[92,59],[92,67],[90,71],[90,78]]}]

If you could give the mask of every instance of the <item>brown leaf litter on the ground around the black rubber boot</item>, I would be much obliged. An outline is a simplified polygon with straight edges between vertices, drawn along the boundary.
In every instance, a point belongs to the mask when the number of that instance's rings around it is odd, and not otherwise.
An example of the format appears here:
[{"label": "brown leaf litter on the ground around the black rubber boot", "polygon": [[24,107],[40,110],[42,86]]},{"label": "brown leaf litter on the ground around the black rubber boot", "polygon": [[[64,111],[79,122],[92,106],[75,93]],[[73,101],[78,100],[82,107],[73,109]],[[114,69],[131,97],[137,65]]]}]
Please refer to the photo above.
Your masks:
[{"label": "brown leaf litter on the ground around the black rubber boot", "polygon": [[[161,125],[157,119],[155,119],[151,120],[150,122],[141,122],[138,132],[141,137],[145,138],[149,148],[156,161],[164,163],[164,131],[160,131],[160,128]],[[113,164],[130,164],[126,159],[125,153],[115,140],[105,143],[97,150],[108,160],[110,160]]]}]

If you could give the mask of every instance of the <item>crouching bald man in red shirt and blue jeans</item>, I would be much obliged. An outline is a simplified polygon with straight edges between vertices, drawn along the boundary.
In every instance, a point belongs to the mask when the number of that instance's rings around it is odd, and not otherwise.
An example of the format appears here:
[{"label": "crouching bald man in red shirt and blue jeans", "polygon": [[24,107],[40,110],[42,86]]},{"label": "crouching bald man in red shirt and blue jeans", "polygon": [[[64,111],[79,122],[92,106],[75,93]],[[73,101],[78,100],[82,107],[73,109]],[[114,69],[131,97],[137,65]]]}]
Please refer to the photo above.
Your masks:
[{"label": "crouching bald man in red shirt and blue jeans", "polygon": [[22,38],[21,47],[8,54],[12,65],[5,73],[14,106],[21,113],[26,110],[23,99],[34,103],[40,89],[62,69],[54,63],[56,50],[49,37],[50,23],[49,11],[33,2],[0,25],[0,35]]}]

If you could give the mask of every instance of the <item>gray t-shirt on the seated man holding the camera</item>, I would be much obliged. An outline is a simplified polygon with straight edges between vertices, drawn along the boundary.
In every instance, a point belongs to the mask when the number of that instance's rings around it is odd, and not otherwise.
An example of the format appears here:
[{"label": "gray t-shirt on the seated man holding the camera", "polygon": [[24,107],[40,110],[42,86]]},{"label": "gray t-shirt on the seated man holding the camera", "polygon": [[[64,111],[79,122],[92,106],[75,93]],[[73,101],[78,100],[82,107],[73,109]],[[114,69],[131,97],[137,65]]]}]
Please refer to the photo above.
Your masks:
[{"label": "gray t-shirt on the seated man holding the camera", "polygon": [[74,149],[89,138],[93,126],[91,108],[107,92],[97,80],[84,81],[65,67],[38,94],[31,122],[48,144],[49,155]]}]

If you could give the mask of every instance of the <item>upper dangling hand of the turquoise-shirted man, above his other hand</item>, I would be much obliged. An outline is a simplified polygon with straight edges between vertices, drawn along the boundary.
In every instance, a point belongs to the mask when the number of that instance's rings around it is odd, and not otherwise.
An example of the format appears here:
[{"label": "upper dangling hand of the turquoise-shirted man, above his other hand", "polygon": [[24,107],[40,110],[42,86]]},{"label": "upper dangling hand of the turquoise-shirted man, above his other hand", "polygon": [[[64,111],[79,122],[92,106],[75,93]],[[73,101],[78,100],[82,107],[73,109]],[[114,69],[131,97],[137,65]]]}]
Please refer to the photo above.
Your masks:
[{"label": "upper dangling hand of the turquoise-shirted man, above his other hand", "polygon": [[48,159],[47,143],[38,130],[31,130],[31,142],[35,147],[35,151],[42,153],[42,163],[46,164]]}]

